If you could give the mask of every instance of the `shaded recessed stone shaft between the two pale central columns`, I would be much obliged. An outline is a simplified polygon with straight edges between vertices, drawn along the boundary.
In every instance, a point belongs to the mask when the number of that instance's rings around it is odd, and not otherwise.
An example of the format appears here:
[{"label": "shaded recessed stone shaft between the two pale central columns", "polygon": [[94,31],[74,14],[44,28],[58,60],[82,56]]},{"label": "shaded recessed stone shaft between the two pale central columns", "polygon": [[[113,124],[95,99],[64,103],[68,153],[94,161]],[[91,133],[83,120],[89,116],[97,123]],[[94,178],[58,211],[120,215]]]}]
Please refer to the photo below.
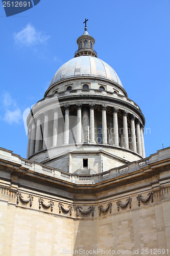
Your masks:
[{"label": "shaded recessed stone shaft between the two pale central columns", "polygon": [[89,142],[89,110],[86,106],[82,109],[83,142]]}]

